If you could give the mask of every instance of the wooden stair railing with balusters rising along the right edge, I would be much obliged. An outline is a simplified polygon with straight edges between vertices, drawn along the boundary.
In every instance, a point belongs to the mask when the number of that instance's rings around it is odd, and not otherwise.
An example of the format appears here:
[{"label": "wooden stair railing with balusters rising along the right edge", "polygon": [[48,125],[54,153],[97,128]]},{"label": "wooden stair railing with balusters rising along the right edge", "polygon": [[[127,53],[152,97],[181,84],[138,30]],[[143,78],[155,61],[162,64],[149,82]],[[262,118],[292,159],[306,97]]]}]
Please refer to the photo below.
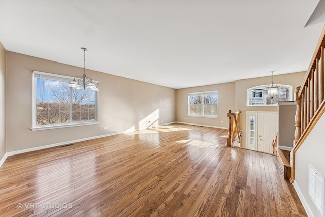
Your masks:
[{"label": "wooden stair railing with balusters rising along the right edge", "polygon": [[325,112],[324,100],[325,26],[318,41],[304,81],[296,88],[296,116],[294,149],[290,153],[290,181],[295,179],[295,154]]}]

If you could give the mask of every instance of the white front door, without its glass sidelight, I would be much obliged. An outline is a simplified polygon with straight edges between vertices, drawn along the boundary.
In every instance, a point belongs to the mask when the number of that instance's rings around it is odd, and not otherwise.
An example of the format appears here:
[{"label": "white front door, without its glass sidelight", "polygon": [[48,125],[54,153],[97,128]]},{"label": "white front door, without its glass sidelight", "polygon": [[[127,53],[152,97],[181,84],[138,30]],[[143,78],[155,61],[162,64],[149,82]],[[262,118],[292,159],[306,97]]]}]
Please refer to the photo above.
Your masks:
[{"label": "white front door, without its glass sidelight", "polygon": [[258,113],[257,150],[273,153],[272,141],[277,133],[277,114]]}]

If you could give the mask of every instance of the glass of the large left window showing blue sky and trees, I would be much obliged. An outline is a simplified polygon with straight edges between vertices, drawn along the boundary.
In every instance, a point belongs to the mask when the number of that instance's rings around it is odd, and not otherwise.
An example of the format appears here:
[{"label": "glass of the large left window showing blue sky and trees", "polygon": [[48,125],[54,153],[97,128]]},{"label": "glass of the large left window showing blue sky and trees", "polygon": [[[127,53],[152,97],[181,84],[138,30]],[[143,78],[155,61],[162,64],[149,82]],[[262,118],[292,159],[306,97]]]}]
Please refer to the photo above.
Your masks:
[{"label": "glass of the large left window showing blue sky and trees", "polygon": [[36,79],[37,125],[94,121],[95,91],[71,89],[69,82]]}]

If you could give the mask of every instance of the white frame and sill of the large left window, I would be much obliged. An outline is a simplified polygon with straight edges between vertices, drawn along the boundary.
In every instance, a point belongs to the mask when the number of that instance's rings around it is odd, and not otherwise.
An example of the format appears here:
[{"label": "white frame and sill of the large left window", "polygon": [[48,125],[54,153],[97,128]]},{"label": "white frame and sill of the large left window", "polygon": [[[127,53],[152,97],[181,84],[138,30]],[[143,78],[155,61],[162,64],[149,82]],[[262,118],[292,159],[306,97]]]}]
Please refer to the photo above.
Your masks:
[{"label": "white frame and sill of the large left window", "polygon": [[[55,78],[57,78],[58,81],[64,81],[64,82],[70,82],[74,79],[74,77],[66,76],[66,75],[58,75],[58,74],[39,72],[39,71],[32,72],[32,128],[30,128],[32,131],[75,127],[75,126],[83,126],[83,125],[96,125],[99,123],[99,121],[98,121],[98,91],[95,91],[95,120],[93,120],[93,121],[76,121],[76,122],[70,121],[69,123],[57,123],[57,124],[51,124],[51,125],[37,125],[37,123],[36,123],[37,77],[35,77],[35,75],[41,75],[41,76],[44,75],[44,76],[49,76],[49,77],[55,77]],[[92,80],[92,81],[96,84],[96,86],[98,86],[98,81],[95,81],[95,80]],[[71,106],[70,106],[70,110],[71,110]]]}]

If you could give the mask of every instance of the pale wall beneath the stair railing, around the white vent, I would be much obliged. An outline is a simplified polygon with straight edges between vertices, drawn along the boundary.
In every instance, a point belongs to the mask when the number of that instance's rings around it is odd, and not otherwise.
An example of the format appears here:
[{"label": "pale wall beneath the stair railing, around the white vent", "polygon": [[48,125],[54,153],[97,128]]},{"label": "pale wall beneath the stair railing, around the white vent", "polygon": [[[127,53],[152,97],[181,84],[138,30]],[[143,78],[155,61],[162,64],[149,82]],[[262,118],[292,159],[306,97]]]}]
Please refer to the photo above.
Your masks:
[{"label": "pale wall beneath the stair railing, around the white vent", "polygon": [[320,214],[308,195],[308,163],[310,163],[322,176],[325,176],[324,128],[325,115],[323,114],[302,146],[298,149],[295,158],[295,183],[298,185],[314,216],[320,216]]}]

